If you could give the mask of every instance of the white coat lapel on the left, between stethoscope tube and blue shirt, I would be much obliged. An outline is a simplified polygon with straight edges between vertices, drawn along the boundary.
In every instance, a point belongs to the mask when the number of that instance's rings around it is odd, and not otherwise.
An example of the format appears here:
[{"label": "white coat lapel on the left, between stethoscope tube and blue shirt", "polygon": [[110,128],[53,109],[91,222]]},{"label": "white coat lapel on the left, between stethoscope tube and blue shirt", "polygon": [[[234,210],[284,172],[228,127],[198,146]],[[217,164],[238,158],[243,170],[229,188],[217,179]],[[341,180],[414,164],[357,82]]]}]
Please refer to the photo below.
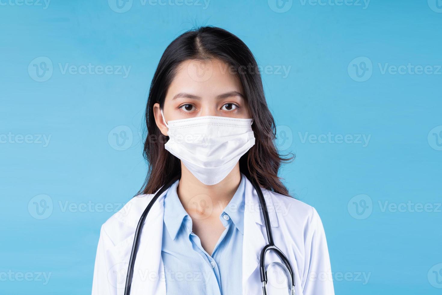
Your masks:
[{"label": "white coat lapel on the left, between stethoscope tube and blue shirt", "polygon": [[161,259],[166,192],[153,204],[142,228],[133,268],[131,294],[166,294],[164,264]]}]

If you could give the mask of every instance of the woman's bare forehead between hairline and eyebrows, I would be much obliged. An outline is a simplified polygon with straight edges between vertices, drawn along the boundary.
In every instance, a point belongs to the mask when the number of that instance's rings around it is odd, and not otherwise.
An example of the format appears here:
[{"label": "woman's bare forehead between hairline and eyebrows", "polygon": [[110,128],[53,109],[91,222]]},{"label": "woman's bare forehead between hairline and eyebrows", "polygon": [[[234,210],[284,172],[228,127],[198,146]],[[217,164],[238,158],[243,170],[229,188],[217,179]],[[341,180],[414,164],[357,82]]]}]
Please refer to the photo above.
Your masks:
[{"label": "woman's bare forehead between hairline and eyebrows", "polygon": [[188,60],[178,66],[167,96],[183,91],[206,96],[226,91],[243,93],[243,88],[240,78],[224,61]]}]

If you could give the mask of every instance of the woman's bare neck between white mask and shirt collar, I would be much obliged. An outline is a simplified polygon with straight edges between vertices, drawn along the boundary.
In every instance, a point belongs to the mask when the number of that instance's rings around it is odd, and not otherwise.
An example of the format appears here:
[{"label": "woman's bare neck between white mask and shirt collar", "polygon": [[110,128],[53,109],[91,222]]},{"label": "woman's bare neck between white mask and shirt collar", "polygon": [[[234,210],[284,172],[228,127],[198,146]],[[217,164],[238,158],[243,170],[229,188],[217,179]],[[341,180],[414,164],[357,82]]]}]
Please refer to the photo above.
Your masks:
[{"label": "woman's bare neck between white mask and shirt collar", "polygon": [[177,193],[184,209],[190,215],[201,215],[202,212],[204,215],[219,215],[229,204],[240,182],[239,162],[221,182],[214,185],[203,184],[181,163],[181,179]]}]

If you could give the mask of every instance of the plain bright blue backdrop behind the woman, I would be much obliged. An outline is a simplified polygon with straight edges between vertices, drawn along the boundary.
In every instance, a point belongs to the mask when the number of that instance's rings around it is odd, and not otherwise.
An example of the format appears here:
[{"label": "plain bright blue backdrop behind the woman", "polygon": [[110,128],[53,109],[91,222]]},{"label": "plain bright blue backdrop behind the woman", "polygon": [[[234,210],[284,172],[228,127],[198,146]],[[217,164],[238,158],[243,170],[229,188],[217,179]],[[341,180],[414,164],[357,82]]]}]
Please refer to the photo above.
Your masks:
[{"label": "plain bright blue backdrop behind the woman", "polygon": [[[282,10],[273,0],[207,6],[133,0],[126,12],[112,0],[52,0],[47,7],[35,1],[0,2],[0,294],[91,291],[100,225],[145,177],[140,136],[156,65],[174,38],[202,24],[232,31],[268,66],[263,84],[278,145],[297,156],[281,176],[319,212],[332,271],[349,273],[335,275],[336,294],[441,293],[431,270],[442,263],[436,210],[442,201],[442,9],[436,0],[368,6],[294,0],[281,1]],[[53,73],[38,82],[32,69],[43,67],[41,57],[49,58]],[[367,58],[372,66],[361,62]],[[63,74],[59,66],[89,63],[131,68],[123,77]],[[408,63],[439,74],[382,72]],[[278,74],[282,66],[290,67],[287,76]],[[370,135],[370,141],[303,140],[306,133],[328,132]],[[39,134],[50,136],[49,144]],[[46,203],[48,216],[40,220],[34,202],[42,194],[52,206]],[[385,202],[433,210],[383,210]],[[109,207],[76,209],[81,204]],[[27,272],[30,280],[16,279]],[[47,284],[38,272],[50,274]]]}]

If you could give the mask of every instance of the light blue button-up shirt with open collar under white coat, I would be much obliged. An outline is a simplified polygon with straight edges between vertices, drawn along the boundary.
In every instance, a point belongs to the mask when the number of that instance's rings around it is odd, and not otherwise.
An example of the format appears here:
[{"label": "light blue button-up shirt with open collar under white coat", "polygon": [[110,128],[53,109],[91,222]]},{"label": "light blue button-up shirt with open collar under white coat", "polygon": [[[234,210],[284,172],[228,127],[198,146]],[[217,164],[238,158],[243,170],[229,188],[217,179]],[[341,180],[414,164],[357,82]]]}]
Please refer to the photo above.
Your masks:
[{"label": "light blue button-up shirt with open collar under white coat", "polygon": [[169,188],[164,198],[161,249],[168,295],[242,294],[244,186],[241,174],[240,186],[220,215],[225,230],[212,256],[192,232],[192,219],[176,193],[178,181]]}]

